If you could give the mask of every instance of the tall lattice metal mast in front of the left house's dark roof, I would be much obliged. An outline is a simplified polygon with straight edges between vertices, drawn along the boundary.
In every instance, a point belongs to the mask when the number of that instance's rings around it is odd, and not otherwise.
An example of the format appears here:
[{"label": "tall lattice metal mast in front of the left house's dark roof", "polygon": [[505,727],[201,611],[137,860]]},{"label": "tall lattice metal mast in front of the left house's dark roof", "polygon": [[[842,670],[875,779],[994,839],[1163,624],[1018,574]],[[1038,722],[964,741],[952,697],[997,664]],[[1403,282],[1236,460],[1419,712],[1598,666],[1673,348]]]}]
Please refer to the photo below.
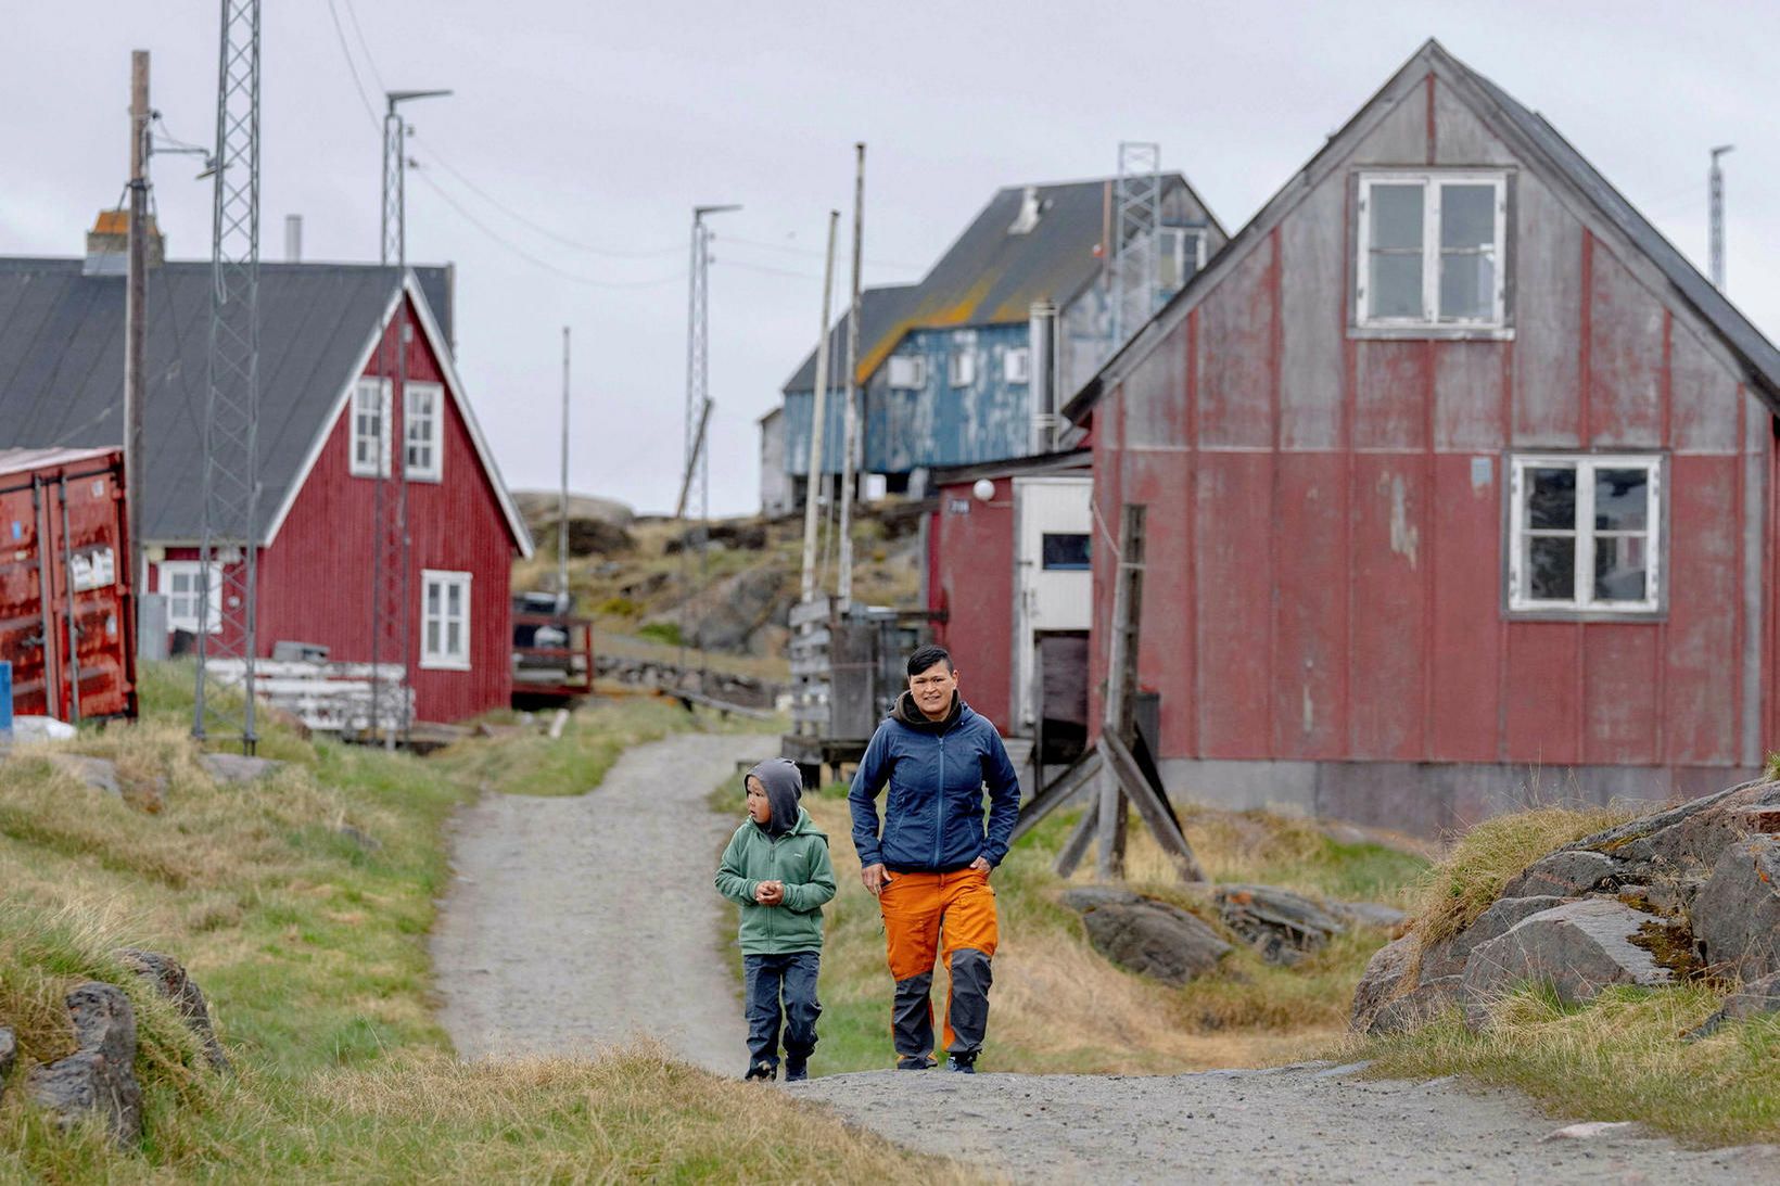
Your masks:
[{"label": "tall lattice metal mast in front of the left house's dark roof", "polygon": [[[199,532],[198,682],[192,735],[210,721],[260,737],[253,677],[258,614],[260,461],[260,0],[222,0],[217,53],[215,185],[210,199],[210,351],[205,367],[203,527]],[[240,664],[240,714],[215,695]]]}]

